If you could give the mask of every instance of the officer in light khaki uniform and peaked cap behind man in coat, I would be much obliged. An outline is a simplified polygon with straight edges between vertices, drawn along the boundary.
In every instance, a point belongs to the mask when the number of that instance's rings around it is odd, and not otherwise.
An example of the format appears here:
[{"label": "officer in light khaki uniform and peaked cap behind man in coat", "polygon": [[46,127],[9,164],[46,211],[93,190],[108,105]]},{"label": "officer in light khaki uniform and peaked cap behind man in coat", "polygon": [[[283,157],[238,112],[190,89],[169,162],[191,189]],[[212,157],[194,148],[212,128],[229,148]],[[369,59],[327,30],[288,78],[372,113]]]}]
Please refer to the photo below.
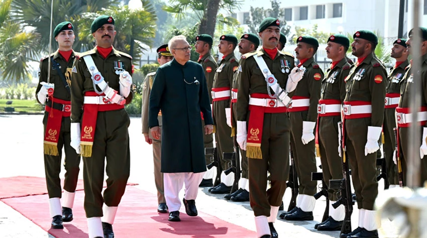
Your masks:
[{"label": "officer in light khaki uniform and peaked cap behind man in coat", "polygon": [[[159,62],[160,66],[165,63],[171,61],[173,59],[173,55],[169,52],[169,48],[167,44],[161,45],[157,48],[157,62]],[[152,72],[147,74],[144,79],[144,85],[142,89],[142,133],[144,134],[145,142],[148,144],[153,144],[153,159],[154,159],[154,182],[156,183],[157,188],[157,211],[161,213],[167,212],[167,205],[165,200],[165,190],[163,187],[163,173],[160,172],[161,163],[160,163],[160,151],[162,148],[162,141],[156,140],[151,136],[150,129],[148,128],[148,101],[150,98],[151,87],[153,86],[153,80],[156,72]],[[162,123],[162,113],[159,113],[158,116],[159,124],[161,127]]]}]

